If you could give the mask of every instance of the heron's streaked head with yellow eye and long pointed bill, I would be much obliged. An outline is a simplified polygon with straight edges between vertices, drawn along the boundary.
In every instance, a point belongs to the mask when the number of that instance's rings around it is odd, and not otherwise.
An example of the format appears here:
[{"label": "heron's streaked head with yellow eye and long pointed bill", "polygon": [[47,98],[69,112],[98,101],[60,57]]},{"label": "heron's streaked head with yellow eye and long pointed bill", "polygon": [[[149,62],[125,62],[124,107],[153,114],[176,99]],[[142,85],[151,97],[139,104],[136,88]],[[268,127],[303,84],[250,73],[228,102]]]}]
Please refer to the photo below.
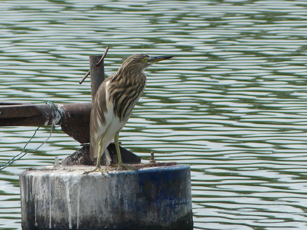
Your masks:
[{"label": "heron's streaked head with yellow eye and long pointed bill", "polygon": [[166,59],[170,59],[174,56],[155,56],[150,57],[147,54],[139,53],[134,54],[128,57],[123,63],[121,68],[129,68],[134,71],[144,71],[147,67],[150,67],[152,64],[163,61]]}]

